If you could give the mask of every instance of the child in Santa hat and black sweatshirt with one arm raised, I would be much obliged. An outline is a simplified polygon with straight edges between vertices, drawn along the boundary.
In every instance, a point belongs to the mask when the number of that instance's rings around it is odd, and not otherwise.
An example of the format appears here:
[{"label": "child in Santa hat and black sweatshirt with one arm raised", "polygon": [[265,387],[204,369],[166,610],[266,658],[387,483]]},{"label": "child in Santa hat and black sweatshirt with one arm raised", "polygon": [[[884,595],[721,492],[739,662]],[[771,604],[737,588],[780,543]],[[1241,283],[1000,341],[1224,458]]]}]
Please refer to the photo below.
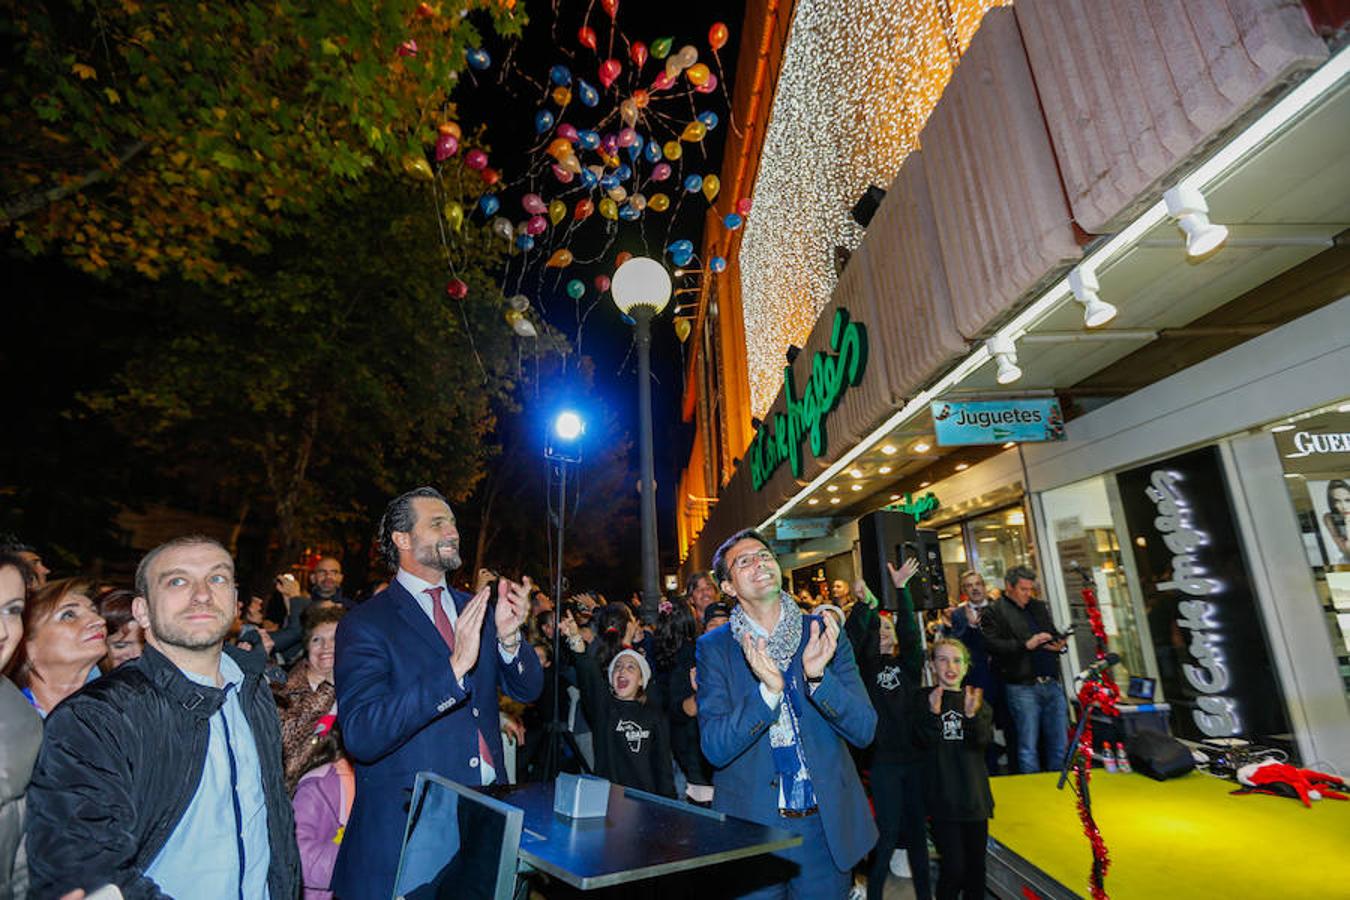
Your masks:
[{"label": "child in Santa hat and black sweatshirt with one arm raised", "polygon": [[[645,702],[647,683],[652,676],[647,660],[625,646],[609,658],[602,676],[603,656],[595,650],[603,648],[587,649],[571,615],[563,617],[560,627],[576,665],[582,710],[595,739],[595,775],[629,788],[674,797],[675,773],[666,715],[657,706]],[[603,630],[597,644],[602,637]]]}]

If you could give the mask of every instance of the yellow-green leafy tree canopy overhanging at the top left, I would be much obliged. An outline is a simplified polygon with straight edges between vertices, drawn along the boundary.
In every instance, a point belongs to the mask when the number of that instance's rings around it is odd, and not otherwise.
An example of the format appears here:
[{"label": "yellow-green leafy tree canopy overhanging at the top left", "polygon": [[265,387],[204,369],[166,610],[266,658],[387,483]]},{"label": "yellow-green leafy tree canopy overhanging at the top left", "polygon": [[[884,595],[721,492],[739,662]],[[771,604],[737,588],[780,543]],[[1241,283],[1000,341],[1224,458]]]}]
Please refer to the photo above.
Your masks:
[{"label": "yellow-green leafy tree canopy overhanging at the top left", "polygon": [[224,282],[231,248],[425,165],[479,26],[525,22],[514,0],[0,7],[0,232],[90,273]]}]

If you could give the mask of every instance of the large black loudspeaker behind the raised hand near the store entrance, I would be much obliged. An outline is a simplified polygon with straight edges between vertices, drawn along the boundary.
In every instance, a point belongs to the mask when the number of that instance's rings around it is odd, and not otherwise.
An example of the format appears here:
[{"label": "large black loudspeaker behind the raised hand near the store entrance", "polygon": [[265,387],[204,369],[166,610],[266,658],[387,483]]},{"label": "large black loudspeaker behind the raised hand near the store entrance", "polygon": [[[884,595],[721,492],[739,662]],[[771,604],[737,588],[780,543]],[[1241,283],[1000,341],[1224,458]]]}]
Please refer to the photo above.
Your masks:
[{"label": "large black loudspeaker behind the raised hand near the store entrance", "polygon": [[946,578],[942,573],[937,532],[918,528],[909,513],[878,510],[857,521],[857,536],[863,582],[876,591],[883,610],[894,613],[900,609],[900,595],[891,583],[886,564],[899,565],[911,556],[919,563],[919,571],[910,579],[914,609],[946,607]]}]

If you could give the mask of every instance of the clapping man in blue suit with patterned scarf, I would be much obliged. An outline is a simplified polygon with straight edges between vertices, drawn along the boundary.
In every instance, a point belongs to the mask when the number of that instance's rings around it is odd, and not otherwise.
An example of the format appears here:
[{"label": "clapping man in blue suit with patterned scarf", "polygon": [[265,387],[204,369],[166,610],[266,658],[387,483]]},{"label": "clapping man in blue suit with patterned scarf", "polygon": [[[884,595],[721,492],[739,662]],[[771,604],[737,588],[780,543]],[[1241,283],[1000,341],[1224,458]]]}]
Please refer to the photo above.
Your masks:
[{"label": "clapping man in blue suit with patterned scarf", "polygon": [[[698,640],[698,726],[716,768],[713,808],[802,835],[747,864],[747,897],[840,899],[876,827],[845,741],[872,742],[867,698],[840,622],[806,615],[751,529],[713,556],[730,621]],[[824,621],[822,621],[824,619]]]}]

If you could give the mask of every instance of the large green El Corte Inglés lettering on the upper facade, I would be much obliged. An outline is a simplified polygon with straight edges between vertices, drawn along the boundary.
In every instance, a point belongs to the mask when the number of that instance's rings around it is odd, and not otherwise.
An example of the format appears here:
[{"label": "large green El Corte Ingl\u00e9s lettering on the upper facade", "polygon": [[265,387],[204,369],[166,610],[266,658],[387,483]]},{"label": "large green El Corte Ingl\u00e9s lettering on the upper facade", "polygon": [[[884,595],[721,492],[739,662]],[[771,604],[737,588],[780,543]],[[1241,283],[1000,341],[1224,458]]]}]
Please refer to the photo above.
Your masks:
[{"label": "large green El Corte Ingl\u00e9s lettering on the upper facade", "polygon": [[844,393],[863,381],[867,370],[867,328],[850,322],[846,309],[834,310],[830,351],[833,352],[818,351],[811,359],[811,374],[801,399],[792,385],[792,367],[783,370],[787,412],[774,413],[759,426],[751,441],[751,487],[756,491],[764,487],[783,460],[792,464],[794,478],[802,476],[803,439],[810,439],[813,456],[825,455],[825,418],[838,406]]}]

